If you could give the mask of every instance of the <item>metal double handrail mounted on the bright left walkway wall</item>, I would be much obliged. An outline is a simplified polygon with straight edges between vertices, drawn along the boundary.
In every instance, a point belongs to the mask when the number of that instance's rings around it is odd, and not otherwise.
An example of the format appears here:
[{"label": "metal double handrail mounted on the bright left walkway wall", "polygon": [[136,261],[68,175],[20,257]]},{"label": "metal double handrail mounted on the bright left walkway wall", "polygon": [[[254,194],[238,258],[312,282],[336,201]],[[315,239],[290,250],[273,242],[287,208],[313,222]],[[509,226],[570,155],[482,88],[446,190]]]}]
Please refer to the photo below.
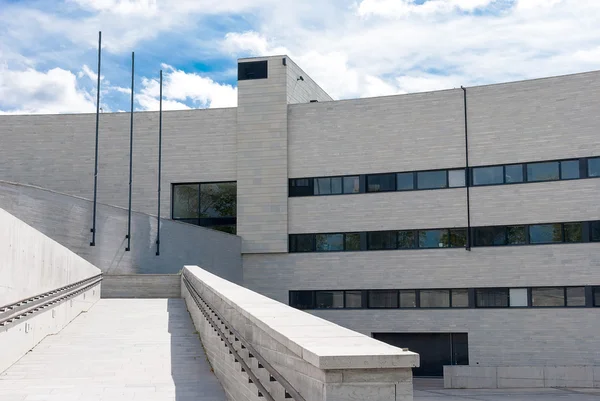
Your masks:
[{"label": "metal double handrail mounted on the bright left walkway wall", "polygon": [[50,305],[72,298],[102,281],[102,274],[56,288],[42,294],[0,307],[0,327],[27,315],[39,312]]}]

